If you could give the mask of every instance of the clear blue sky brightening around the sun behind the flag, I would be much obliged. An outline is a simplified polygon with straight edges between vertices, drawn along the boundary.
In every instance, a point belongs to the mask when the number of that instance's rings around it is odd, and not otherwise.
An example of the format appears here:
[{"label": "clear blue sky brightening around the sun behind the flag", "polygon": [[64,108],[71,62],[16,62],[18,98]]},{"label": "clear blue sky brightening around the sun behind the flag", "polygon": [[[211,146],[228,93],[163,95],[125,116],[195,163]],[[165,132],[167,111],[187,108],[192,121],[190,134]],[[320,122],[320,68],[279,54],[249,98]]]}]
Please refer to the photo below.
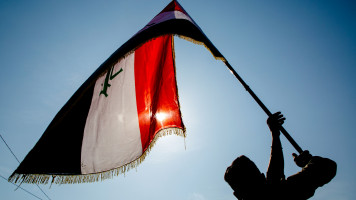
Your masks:
[{"label": "clear blue sky brightening around the sun behind the flag", "polygon": [[[78,87],[169,2],[0,1],[0,132],[20,160]],[[312,199],[355,199],[356,3],[179,2],[271,112],[285,114],[297,143],[338,163]],[[266,171],[266,114],[204,47],[175,38],[175,49],[187,138],[161,138],[136,170],[111,180],[41,186],[51,199],[232,200],[223,175],[237,156]],[[299,168],[282,143],[289,176]],[[8,177],[18,163],[2,141],[0,159]],[[0,199],[36,199],[15,189],[0,179]]]}]

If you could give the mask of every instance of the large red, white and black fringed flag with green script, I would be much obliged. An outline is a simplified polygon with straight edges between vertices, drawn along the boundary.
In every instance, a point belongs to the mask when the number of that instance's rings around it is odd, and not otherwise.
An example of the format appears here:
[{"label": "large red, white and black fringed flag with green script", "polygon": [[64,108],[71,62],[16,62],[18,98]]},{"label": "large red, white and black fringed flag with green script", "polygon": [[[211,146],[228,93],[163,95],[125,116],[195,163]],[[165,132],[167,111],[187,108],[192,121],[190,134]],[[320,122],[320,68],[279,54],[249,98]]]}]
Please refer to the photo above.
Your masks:
[{"label": "large red, white and black fringed flag with green script", "polygon": [[159,136],[185,136],[173,35],[225,60],[172,1],[74,93],[10,176],[11,182],[81,183],[137,166]]}]

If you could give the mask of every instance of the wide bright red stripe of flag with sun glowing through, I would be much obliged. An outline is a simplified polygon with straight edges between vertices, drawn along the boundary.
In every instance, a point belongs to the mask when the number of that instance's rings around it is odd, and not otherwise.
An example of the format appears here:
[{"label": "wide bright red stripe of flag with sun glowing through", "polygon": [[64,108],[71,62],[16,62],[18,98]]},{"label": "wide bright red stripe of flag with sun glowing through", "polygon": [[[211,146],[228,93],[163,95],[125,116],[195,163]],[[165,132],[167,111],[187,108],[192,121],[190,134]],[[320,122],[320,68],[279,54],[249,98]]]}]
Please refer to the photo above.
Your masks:
[{"label": "wide bright red stripe of flag with sun glowing through", "polygon": [[155,38],[135,51],[135,86],[142,150],[164,128],[184,128],[181,120],[173,36]]}]

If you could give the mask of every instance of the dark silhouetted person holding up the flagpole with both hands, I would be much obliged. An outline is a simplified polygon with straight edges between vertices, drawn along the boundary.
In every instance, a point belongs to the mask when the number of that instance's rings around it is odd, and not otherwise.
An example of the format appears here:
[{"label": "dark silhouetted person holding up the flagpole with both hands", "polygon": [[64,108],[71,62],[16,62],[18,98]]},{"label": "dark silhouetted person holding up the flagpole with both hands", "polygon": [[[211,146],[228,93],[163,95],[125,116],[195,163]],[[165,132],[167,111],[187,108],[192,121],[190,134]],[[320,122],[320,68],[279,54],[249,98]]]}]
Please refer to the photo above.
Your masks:
[{"label": "dark silhouetted person holding up the flagpole with both hands", "polygon": [[225,181],[239,200],[285,199],[302,200],[314,195],[318,187],[336,175],[336,163],[330,159],[312,156],[304,151],[293,154],[295,163],[303,169],[287,179],[284,177],[284,160],[280,141],[280,127],[285,118],[280,112],[268,118],[272,134],[271,158],[267,176],[261,173],[246,156],[236,158],[225,173]]}]

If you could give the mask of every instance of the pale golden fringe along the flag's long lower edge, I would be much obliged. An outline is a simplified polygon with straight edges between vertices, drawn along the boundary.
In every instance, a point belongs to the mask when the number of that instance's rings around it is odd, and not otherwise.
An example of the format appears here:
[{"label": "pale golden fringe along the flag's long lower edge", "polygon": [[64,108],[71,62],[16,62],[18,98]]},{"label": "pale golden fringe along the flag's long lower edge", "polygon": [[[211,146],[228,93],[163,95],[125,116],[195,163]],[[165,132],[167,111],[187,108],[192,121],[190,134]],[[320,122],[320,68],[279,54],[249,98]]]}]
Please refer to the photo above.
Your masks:
[{"label": "pale golden fringe along the flag's long lower edge", "polygon": [[127,163],[121,167],[116,169],[112,169],[105,172],[95,173],[95,174],[79,174],[79,175],[51,175],[51,174],[12,174],[8,181],[12,183],[31,183],[31,184],[48,184],[50,179],[51,184],[77,184],[77,183],[92,183],[99,182],[106,179],[112,179],[114,176],[118,176],[119,174],[125,174],[129,170],[133,168],[137,168],[146,158],[146,156],[150,153],[151,149],[156,144],[158,138],[167,136],[167,135],[178,135],[181,137],[186,137],[185,129],[180,128],[166,128],[160,130],[150,145],[146,149],[146,151],[136,160]]}]

